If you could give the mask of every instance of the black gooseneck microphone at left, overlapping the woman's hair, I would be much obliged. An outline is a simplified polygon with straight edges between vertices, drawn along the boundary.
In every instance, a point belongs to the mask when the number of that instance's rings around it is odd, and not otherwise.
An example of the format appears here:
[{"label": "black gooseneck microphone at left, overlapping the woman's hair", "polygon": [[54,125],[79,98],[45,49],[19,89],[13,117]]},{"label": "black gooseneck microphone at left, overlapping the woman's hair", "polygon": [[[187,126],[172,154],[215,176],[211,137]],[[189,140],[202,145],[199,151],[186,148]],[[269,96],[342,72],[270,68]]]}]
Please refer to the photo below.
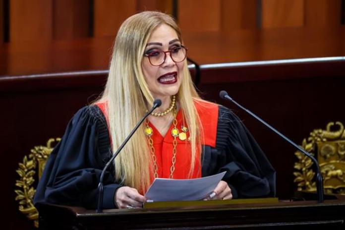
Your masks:
[{"label": "black gooseneck microphone at left, overlapping the woman's hair", "polygon": [[118,149],[116,150],[115,154],[113,154],[112,158],[107,162],[106,166],[104,167],[101,176],[100,176],[100,183],[98,184],[98,203],[97,203],[97,213],[102,213],[102,204],[103,204],[103,177],[104,174],[106,173],[106,170],[109,168],[110,164],[114,161],[115,157],[117,156],[117,154],[122,150],[122,148],[127,144],[128,140],[133,136],[133,134],[135,133],[135,131],[139,128],[139,126],[141,125],[141,123],[145,120],[146,117],[148,117],[148,115],[150,115],[152,113],[152,111],[154,111],[155,109],[157,109],[158,107],[160,107],[162,105],[162,101],[160,99],[156,99],[153,102],[153,106],[151,108],[151,110],[149,112],[147,112],[142,118],[141,120],[135,125],[135,127],[133,128],[133,130],[129,133],[129,135],[127,136],[127,138],[123,141],[123,143],[120,145],[120,147],[118,147]]}]

